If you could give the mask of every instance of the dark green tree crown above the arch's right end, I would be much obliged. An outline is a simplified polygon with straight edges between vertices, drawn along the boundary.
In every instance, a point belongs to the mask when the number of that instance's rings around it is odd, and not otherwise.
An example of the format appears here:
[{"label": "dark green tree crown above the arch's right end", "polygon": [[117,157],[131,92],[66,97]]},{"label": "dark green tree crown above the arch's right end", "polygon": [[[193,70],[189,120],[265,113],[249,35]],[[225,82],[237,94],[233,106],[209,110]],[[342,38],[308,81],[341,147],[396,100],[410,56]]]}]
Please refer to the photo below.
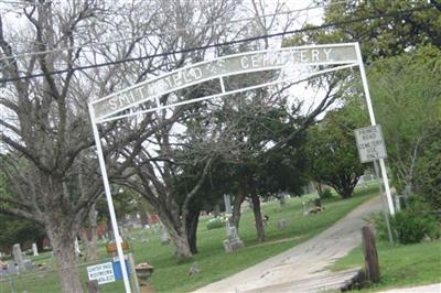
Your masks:
[{"label": "dark green tree crown above the arch's right end", "polygon": [[[346,2],[316,0],[315,2],[326,6],[324,23],[336,23],[336,25],[306,31],[287,43],[359,42],[368,63],[427,44],[441,46],[441,4],[438,0],[430,0],[430,3],[426,0]],[[383,17],[375,18],[379,15]],[[373,17],[374,19],[367,19]],[[306,26],[312,25],[306,24]]]}]

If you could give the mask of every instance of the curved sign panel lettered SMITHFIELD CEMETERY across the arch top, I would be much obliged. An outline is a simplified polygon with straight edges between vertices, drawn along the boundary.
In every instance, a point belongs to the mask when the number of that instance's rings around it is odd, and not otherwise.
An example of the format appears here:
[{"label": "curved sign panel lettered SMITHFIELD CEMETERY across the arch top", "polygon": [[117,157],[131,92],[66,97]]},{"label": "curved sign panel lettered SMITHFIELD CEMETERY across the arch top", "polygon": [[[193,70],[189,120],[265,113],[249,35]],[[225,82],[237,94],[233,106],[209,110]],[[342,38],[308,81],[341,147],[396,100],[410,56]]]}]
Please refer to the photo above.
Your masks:
[{"label": "curved sign panel lettered SMITHFIELD CEMETERY across the arch top", "polygon": [[351,64],[356,61],[353,44],[246,52],[178,69],[114,93],[92,104],[95,117],[100,119],[178,89],[223,76],[280,69],[294,65]]}]

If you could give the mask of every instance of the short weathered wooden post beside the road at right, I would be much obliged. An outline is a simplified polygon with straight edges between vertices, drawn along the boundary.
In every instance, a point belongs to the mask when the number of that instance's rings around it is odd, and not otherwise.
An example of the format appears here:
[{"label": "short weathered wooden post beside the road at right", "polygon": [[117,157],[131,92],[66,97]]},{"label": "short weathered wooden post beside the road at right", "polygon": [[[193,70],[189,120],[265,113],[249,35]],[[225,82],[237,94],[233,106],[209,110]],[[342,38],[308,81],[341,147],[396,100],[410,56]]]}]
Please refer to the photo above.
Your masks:
[{"label": "short weathered wooden post beside the road at right", "polygon": [[370,283],[378,283],[380,274],[374,231],[370,227],[364,226],[362,228],[362,235],[367,281]]}]

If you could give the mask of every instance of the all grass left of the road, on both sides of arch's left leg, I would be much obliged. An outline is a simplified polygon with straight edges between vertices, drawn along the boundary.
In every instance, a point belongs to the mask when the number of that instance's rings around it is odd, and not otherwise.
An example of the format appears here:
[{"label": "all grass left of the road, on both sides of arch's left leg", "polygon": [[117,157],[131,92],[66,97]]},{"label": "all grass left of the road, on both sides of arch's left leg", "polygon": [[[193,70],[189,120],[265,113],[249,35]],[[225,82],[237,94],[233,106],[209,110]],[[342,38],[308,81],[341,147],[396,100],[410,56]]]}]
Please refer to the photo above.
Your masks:
[{"label": "all grass left of the road, on both sides of arch's left leg", "polygon": [[[138,230],[131,234],[131,237],[135,237],[135,240],[130,241],[131,252],[137,263],[147,261],[154,267],[154,273],[149,281],[158,292],[189,292],[232,275],[310,239],[375,194],[377,194],[376,186],[370,186],[367,191],[363,188],[349,199],[342,200],[340,197],[326,199],[324,200],[324,211],[308,217],[303,216],[302,202],[315,197],[314,194],[301,198],[290,198],[283,208],[278,202],[265,203],[262,210],[270,217],[269,224],[266,226],[267,241],[259,243],[256,240],[254,215],[251,210],[247,210],[241,216],[239,229],[245,248],[232,253],[224,252],[222,242],[226,239],[225,228],[212,230],[206,228],[209,217],[203,217],[200,220],[197,231],[200,252],[191,262],[178,262],[173,245],[161,246],[159,235],[153,229]],[[283,230],[277,229],[277,223],[281,218],[288,221],[288,227]],[[142,234],[148,236],[148,242],[140,241]],[[99,254],[101,259],[108,257],[104,245],[99,248]],[[20,275],[20,279],[13,282],[17,292],[60,292],[58,276],[56,271],[52,271],[55,270],[54,259],[50,257],[50,253],[45,253],[40,256],[36,262],[46,263],[49,271],[33,273],[32,280],[29,274]],[[194,262],[197,262],[201,272],[190,276],[189,270]],[[80,264],[79,268],[82,282],[85,284],[87,280],[86,265]],[[0,293],[3,292],[10,292],[10,282],[0,282]],[[123,292],[122,282],[103,285],[101,292]]]}]

